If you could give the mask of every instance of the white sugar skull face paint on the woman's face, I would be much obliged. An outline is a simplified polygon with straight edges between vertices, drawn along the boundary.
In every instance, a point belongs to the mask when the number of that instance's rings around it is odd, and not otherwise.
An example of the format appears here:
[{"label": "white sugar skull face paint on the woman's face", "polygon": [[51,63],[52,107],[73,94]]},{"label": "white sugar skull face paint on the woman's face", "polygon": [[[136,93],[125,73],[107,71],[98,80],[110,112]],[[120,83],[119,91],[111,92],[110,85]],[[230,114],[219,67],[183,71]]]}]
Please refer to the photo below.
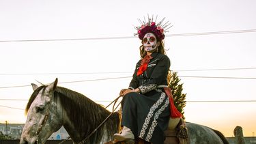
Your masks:
[{"label": "white sugar skull face paint on the woman's face", "polygon": [[153,33],[146,33],[143,38],[143,46],[145,51],[153,51],[156,49],[156,36]]}]

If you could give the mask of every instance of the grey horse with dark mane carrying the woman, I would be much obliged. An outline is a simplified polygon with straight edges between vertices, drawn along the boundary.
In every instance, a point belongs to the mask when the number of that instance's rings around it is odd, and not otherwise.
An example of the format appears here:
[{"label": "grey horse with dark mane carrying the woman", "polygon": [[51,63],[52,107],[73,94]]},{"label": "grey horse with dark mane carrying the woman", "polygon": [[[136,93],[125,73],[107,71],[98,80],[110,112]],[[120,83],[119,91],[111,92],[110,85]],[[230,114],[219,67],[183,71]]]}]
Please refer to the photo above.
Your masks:
[{"label": "grey horse with dark mane carrying the woman", "polygon": [[[31,84],[33,93],[27,103],[27,121],[20,144],[46,143],[63,126],[73,143],[103,144],[119,132],[119,113],[104,109],[83,94],[57,86]],[[108,117],[106,119],[106,117]],[[186,122],[191,144],[228,143],[223,134],[207,126]]]}]

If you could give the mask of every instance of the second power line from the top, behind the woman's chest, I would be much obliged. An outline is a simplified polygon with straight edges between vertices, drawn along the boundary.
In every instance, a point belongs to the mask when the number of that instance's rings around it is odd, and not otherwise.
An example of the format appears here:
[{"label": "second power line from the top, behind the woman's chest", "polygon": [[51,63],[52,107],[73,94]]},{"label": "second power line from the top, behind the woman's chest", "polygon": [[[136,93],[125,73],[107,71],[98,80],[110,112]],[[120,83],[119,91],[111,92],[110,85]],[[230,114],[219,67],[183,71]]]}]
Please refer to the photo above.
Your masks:
[{"label": "second power line from the top, behind the woman's chest", "polygon": [[[219,70],[256,70],[252,68],[216,68],[216,69],[191,69],[191,70],[171,70],[173,72],[191,71],[219,71]],[[69,74],[129,74],[131,72],[53,72],[53,73],[0,73],[0,75],[69,75]]]}]

